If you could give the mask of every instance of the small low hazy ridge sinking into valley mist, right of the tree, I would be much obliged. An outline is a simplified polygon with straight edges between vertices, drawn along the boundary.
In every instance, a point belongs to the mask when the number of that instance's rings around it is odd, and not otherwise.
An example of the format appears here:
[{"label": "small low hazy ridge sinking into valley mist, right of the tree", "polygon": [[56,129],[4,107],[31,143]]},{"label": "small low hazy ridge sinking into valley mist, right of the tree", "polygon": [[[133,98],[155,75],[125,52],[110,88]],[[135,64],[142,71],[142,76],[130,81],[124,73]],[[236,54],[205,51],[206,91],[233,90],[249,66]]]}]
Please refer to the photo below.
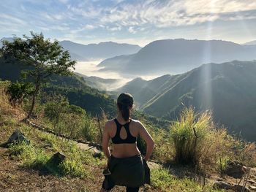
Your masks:
[{"label": "small low hazy ridge sinking into valley mist, right of the tree", "polygon": [[120,85],[121,80],[118,79],[104,79],[95,76],[86,76],[84,74],[75,73],[80,77],[83,77],[83,80],[89,85],[91,88],[97,88],[101,91],[111,90],[113,88],[118,87]]}]

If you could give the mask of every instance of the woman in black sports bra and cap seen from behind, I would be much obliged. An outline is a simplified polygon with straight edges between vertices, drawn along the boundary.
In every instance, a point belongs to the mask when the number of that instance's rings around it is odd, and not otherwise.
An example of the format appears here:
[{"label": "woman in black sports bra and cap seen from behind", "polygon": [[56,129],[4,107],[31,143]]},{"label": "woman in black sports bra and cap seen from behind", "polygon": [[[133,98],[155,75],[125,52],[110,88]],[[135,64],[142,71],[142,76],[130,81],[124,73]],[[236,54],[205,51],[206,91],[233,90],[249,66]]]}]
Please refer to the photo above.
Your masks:
[{"label": "woman in black sports bra and cap seen from behind", "polygon": [[[121,93],[117,99],[117,117],[105,124],[102,150],[108,158],[109,173],[105,173],[101,192],[110,191],[114,185],[126,186],[127,192],[137,192],[149,179],[146,161],[153,152],[154,141],[139,120],[130,118],[132,105],[132,96],[129,93]],[[144,158],[137,147],[138,136],[144,139],[147,145]],[[113,142],[111,154],[108,147],[110,139]]]}]

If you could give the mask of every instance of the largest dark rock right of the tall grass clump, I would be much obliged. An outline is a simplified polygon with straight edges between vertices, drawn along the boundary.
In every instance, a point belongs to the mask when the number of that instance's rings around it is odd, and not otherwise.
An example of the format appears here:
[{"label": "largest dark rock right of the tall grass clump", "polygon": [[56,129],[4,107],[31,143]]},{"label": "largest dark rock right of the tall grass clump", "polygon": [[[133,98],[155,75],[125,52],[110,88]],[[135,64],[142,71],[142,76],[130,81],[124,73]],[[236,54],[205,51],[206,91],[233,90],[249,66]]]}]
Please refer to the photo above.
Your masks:
[{"label": "largest dark rock right of the tall grass clump", "polygon": [[246,166],[240,164],[238,162],[227,162],[227,169],[225,170],[225,174],[230,177],[234,177],[236,179],[243,177],[246,172]]}]

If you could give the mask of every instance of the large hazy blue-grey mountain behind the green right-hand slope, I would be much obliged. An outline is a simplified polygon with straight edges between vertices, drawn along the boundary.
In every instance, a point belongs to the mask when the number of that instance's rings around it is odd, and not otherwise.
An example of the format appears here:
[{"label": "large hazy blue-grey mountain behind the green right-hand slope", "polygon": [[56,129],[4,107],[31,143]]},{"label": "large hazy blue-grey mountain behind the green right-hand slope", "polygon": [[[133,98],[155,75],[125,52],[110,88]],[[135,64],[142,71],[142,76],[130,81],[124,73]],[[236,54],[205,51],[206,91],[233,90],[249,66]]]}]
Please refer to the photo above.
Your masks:
[{"label": "large hazy blue-grey mountain behind the green right-hand slope", "polygon": [[127,74],[178,74],[201,64],[256,59],[256,45],[238,45],[221,40],[166,39],[151,42],[138,53],[102,61],[101,70]]}]

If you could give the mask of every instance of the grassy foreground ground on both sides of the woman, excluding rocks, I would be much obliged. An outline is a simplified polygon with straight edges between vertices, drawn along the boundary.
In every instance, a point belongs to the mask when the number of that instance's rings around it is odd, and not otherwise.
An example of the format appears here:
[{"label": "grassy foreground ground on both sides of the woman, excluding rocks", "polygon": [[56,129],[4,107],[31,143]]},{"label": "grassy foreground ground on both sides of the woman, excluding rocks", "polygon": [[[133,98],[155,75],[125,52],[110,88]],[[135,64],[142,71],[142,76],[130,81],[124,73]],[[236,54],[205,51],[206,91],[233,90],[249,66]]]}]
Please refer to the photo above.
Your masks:
[{"label": "grassy foreground ground on both sides of the woman, excluding rocks", "polygon": [[[1,90],[0,104],[0,142],[5,142],[16,128],[31,140],[30,147],[25,147],[20,155],[13,153],[19,151],[18,147],[0,147],[0,191],[99,191],[105,158],[94,158],[90,151],[80,150],[73,142],[20,123],[25,112],[12,107]],[[69,169],[64,174],[45,172],[42,164],[57,151],[66,155]],[[179,180],[167,169],[152,170],[151,182],[141,191],[214,191],[210,186],[203,189],[192,180]],[[116,187],[113,191],[124,188]]]}]

